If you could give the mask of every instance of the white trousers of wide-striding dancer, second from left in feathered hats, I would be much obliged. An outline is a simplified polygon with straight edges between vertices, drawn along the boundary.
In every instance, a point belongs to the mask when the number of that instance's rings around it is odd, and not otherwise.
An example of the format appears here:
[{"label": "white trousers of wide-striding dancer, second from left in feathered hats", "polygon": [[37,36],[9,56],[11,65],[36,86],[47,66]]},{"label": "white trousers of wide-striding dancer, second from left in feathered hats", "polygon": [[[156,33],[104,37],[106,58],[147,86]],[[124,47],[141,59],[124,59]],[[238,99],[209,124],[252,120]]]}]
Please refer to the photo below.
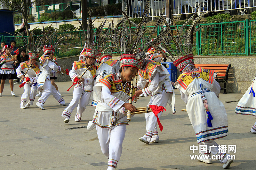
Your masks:
[{"label": "white trousers of wide-striding dancer, second from left in feathered hats", "polygon": [[65,100],[57,92],[56,88],[52,85],[50,80],[46,79],[43,87],[44,87],[44,92],[42,93],[42,96],[37,100],[37,102],[41,106],[44,106],[45,101],[48,99],[48,97],[51,94],[53,95],[54,99],[56,99],[60,104],[65,104]]}]

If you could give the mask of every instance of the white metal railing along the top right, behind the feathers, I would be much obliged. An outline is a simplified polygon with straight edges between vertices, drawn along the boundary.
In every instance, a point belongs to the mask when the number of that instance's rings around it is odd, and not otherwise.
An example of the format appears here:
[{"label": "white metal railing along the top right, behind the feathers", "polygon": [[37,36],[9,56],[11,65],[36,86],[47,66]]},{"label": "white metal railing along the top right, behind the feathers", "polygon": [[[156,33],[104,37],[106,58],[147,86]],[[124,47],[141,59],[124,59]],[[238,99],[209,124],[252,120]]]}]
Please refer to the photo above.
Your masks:
[{"label": "white metal railing along the top right, behind the feathers", "polygon": [[[196,11],[198,3],[201,3],[198,13],[201,12],[219,12],[230,13],[231,15],[249,14],[256,10],[256,0],[173,0],[172,1],[173,15],[178,15],[181,19],[186,19]],[[122,1],[122,9],[128,3],[128,14],[132,18],[139,18],[144,12],[146,0],[124,0]],[[152,5],[153,4],[153,5]],[[163,10],[166,9],[166,0],[150,0],[149,16],[154,20],[160,16]],[[165,10],[166,11],[166,10]],[[166,12],[165,14],[166,15]]]}]

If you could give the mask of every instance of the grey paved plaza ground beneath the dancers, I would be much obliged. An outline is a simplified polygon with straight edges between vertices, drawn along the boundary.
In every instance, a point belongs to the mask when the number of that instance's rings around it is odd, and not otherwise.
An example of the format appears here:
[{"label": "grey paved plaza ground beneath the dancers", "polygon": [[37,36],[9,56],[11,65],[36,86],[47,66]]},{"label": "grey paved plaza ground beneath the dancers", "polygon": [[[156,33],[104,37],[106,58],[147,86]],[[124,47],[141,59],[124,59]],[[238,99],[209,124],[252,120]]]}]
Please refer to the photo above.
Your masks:
[{"label": "grey paved plaza ground beneath the dancers", "polygon": [[[57,82],[60,93],[67,105],[72,100],[73,90],[66,91],[71,82]],[[189,150],[196,145],[196,135],[189,121],[187,112],[181,111],[185,103],[180,99],[180,93],[175,91],[175,107],[173,115],[169,106],[160,121],[164,126],[158,131],[159,143],[145,144],[139,141],[146,132],[145,115],[139,114],[132,118],[123,143],[123,152],[117,165],[122,170],[165,170],[165,169],[222,169],[218,160],[205,164],[191,160],[190,155],[196,155]],[[15,96],[11,95],[9,84],[5,84],[3,97],[0,98],[0,169],[83,169],[106,170],[108,159],[102,154],[96,129],[86,128],[66,130],[71,127],[87,126],[92,120],[95,107],[88,106],[83,113],[82,121],[75,122],[76,109],[70,122],[64,123],[61,117],[64,107],[52,97],[46,101],[45,110],[35,104],[27,109],[20,109],[20,97],[23,88],[14,85]],[[228,114],[229,135],[216,140],[218,144],[236,145],[236,160],[229,169],[248,169],[256,167],[255,145],[256,134],[250,129],[256,118],[248,115],[235,114],[238,102],[224,101],[240,100],[243,94],[220,93]],[[149,97],[138,100],[136,107],[147,106]]]}]

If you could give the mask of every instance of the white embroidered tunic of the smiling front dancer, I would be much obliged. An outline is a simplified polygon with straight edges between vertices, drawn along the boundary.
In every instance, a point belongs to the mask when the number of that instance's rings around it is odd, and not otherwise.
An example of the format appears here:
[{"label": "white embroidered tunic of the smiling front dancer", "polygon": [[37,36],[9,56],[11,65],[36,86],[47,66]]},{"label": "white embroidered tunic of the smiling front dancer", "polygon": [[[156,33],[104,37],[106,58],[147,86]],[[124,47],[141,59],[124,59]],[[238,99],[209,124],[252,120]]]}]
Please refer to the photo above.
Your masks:
[{"label": "white embroidered tunic of the smiling front dancer", "polygon": [[[109,129],[120,124],[128,125],[122,105],[129,102],[131,82],[126,82],[123,85],[120,77],[118,71],[117,74],[110,74],[97,81],[93,87],[97,100],[99,100],[93,116],[93,123],[101,128]],[[133,94],[134,92],[133,90]]]}]

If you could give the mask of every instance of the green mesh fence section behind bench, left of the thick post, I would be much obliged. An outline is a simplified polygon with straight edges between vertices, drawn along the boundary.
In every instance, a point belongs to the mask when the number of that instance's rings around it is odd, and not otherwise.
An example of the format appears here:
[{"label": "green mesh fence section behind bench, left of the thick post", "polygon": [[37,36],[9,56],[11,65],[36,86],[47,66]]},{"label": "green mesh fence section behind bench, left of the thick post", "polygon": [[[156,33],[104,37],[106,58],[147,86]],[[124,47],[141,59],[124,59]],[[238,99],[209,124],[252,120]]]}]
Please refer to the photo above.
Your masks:
[{"label": "green mesh fence section behind bench, left of the thick post", "polygon": [[246,21],[200,26],[211,27],[199,33],[199,55],[246,55]]}]

